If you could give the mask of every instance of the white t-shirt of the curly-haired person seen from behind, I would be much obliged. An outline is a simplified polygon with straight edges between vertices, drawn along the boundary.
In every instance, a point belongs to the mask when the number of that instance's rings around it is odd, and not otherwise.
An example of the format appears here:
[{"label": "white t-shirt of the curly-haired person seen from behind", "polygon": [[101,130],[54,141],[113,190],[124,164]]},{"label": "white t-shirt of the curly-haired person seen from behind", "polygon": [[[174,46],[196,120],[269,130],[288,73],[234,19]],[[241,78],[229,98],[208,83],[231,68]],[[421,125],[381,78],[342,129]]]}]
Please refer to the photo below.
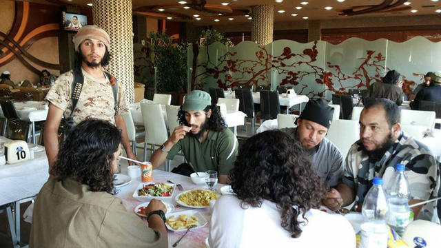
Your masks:
[{"label": "white t-shirt of the curly-haired person seen from behind", "polygon": [[240,204],[241,201],[232,195],[217,200],[209,234],[211,248],[356,247],[356,235],[343,216],[311,209],[305,215],[307,221],[300,237],[291,238],[280,225],[276,203],[263,200],[261,207],[247,209]]}]

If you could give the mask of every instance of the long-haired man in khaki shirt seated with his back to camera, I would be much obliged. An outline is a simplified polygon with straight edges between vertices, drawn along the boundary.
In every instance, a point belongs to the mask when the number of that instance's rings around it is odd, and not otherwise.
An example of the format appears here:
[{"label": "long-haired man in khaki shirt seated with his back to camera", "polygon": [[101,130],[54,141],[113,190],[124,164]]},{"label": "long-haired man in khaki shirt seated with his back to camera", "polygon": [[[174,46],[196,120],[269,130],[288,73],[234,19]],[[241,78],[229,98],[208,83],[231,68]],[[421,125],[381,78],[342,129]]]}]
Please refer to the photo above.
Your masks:
[{"label": "long-haired man in khaki shirt seated with his back to camera", "polygon": [[167,247],[161,200],[146,208],[149,226],[114,196],[121,131],[88,119],[61,143],[57,163],[34,203],[30,247]]}]

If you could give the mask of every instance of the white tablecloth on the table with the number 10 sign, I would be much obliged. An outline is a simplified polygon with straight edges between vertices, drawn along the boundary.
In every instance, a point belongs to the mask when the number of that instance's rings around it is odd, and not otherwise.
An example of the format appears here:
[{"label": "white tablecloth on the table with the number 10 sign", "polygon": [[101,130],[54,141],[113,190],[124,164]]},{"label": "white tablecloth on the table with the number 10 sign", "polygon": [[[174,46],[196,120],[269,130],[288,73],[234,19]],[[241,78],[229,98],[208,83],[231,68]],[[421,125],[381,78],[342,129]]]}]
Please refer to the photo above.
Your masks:
[{"label": "white tablecloth on the table with the number 10 sign", "polygon": [[[0,141],[8,139],[0,137]],[[34,196],[48,180],[48,158],[44,147],[39,147],[41,152],[35,152],[30,161],[0,165],[0,205]]]}]

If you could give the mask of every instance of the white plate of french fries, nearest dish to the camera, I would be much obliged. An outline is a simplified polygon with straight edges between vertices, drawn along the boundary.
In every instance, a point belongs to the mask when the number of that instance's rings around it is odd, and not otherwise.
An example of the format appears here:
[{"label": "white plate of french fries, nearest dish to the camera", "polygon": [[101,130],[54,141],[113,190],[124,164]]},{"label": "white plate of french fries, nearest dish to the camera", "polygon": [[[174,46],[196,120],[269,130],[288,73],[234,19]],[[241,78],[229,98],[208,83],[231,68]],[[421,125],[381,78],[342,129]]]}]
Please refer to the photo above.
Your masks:
[{"label": "white plate of french fries, nearest dish to the camera", "polygon": [[207,220],[196,210],[178,211],[165,214],[165,226],[170,231],[186,231],[189,227],[196,229],[207,225]]}]

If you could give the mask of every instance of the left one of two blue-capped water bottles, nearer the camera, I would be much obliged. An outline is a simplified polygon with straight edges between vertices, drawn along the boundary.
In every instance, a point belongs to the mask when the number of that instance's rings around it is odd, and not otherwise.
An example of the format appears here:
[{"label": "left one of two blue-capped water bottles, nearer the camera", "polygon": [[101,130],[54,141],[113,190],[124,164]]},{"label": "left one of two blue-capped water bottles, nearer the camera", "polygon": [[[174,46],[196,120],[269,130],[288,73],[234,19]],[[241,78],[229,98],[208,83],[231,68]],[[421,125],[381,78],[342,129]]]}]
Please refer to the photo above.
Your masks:
[{"label": "left one of two blue-capped water bottles, nearer the camera", "polygon": [[373,185],[363,201],[362,216],[365,217],[365,223],[361,225],[360,247],[362,248],[387,247],[388,207],[382,185],[382,178],[373,178]]}]

